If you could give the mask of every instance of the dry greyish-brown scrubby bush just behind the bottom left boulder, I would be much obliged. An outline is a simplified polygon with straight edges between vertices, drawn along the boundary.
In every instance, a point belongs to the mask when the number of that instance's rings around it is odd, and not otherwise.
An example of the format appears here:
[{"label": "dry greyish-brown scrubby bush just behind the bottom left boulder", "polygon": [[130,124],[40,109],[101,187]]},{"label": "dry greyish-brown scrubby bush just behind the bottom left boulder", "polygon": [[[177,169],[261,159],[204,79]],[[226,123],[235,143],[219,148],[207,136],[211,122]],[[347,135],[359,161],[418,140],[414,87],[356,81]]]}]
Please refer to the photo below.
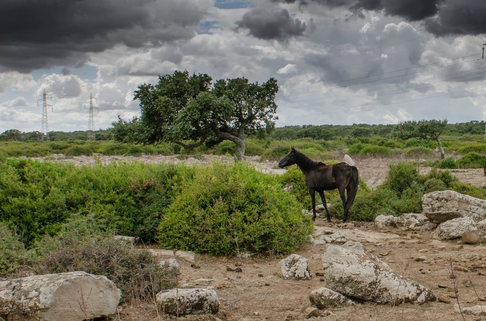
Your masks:
[{"label": "dry greyish-brown scrubby bush just behind the bottom left boulder", "polygon": [[160,267],[149,251],[107,235],[92,217],[75,217],[62,229],[56,237],[36,243],[35,273],[85,271],[104,275],[121,289],[122,301],[148,301],[177,284],[177,275]]}]

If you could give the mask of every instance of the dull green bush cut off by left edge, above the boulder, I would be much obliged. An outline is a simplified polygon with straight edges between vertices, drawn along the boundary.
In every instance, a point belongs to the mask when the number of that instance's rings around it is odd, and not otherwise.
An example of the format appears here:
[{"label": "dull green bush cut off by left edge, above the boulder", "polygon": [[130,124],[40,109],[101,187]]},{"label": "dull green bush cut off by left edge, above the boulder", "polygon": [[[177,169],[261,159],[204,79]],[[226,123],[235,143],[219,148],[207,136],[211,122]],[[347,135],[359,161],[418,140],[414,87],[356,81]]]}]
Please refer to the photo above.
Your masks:
[{"label": "dull green bush cut off by left edge, above the boulder", "polygon": [[16,274],[24,265],[26,250],[15,231],[0,222],[0,276]]}]

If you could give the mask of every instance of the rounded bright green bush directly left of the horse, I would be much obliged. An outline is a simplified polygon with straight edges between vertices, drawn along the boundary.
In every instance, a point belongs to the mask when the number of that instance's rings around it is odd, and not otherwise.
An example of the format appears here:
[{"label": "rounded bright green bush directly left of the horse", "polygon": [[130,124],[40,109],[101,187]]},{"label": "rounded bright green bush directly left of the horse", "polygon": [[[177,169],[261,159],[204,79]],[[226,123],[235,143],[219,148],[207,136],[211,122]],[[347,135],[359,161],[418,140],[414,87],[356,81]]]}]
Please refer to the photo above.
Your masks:
[{"label": "rounded bright green bush directly left of the horse", "polygon": [[159,225],[160,246],[208,255],[295,250],[312,233],[300,204],[275,176],[246,163],[198,168]]}]

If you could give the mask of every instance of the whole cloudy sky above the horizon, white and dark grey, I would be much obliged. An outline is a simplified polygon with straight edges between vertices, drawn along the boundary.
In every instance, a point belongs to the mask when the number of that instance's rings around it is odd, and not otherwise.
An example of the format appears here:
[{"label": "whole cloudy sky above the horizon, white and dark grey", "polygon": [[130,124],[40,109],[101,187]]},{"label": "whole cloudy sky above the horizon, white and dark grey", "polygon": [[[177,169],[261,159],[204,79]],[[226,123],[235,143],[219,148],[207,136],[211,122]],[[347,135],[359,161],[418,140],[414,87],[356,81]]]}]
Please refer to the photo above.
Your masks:
[{"label": "whole cloudy sky above the horizon, white and dark grey", "polygon": [[[2,0],[0,132],[139,115],[174,70],[278,80],[277,126],[486,119],[486,1]],[[51,100],[52,99],[52,100]]]}]

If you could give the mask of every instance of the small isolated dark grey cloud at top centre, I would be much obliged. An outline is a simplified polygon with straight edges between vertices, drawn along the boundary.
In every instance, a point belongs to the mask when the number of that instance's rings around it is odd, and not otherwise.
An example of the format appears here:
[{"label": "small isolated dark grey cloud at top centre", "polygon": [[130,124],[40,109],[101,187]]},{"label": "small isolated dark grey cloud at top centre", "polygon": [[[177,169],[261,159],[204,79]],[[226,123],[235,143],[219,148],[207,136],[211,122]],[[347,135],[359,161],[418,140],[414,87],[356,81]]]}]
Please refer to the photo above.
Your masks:
[{"label": "small isolated dark grey cloud at top centre", "polygon": [[253,8],[235,23],[237,29],[248,29],[256,38],[279,41],[302,35],[306,28],[305,22],[292,19],[286,9]]}]

